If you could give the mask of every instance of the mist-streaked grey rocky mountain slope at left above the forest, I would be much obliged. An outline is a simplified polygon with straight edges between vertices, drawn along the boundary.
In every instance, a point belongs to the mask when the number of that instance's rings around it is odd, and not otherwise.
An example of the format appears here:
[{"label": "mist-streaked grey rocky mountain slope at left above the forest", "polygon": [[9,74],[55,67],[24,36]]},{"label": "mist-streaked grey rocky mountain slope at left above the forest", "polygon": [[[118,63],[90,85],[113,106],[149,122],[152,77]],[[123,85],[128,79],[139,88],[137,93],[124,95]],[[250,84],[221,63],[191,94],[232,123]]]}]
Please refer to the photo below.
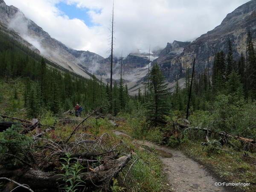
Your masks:
[{"label": "mist-streaked grey rocky mountain slope at left above the forest", "polygon": [[40,26],[26,18],[19,9],[7,6],[3,0],[0,0],[0,30],[12,34],[17,41],[40,52],[50,61],[87,78],[93,73],[89,70],[93,62],[103,59],[96,53],[77,51],[51,38]]}]

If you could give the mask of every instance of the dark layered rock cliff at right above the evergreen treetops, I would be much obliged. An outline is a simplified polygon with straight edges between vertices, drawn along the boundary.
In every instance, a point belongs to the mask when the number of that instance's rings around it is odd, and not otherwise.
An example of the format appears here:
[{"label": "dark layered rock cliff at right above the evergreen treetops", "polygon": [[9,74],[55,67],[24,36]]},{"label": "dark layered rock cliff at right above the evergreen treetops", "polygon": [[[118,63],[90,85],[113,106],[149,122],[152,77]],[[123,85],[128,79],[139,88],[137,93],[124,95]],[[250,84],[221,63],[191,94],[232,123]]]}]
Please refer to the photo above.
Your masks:
[{"label": "dark layered rock cliff at right above the evergreen treetops", "polygon": [[[171,55],[170,57],[166,56],[163,59],[158,59],[158,64],[162,67],[163,73],[169,82],[183,78],[186,64],[187,67],[191,67],[194,57],[196,58],[195,70],[200,73],[205,67],[212,67],[216,52],[221,50],[228,51],[228,38],[230,38],[233,45],[233,57],[238,59],[242,52],[246,52],[246,39],[249,30],[255,42],[256,0],[251,0],[239,6],[229,13],[219,26],[188,44],[179,55],[174,55],[175,57],[173,58]],[[167,44],[165,49],[169,50],[169,48],[170,45]]]}]

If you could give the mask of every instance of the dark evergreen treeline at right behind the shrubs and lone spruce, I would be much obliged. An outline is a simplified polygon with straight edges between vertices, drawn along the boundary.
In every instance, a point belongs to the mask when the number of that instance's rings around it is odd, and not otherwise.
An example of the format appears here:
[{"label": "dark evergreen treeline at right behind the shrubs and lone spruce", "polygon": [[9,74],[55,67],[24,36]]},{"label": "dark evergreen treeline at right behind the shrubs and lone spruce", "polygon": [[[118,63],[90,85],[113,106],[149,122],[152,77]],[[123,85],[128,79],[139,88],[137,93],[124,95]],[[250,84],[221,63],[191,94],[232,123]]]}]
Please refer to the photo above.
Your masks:
[{"label": "dark evergreen treeline at right behind the shrubs and lone spruce", "polygon": [[[190,111],[209,109],[211,102],[220,94],[236,95],[237,100],[256,99],[256,53],[251,33],[248,32],[247,35],[246,55],[241,53],[238,61],[233,59],[232,42],[230,39],[227,42],[228,52],[225,54],[221,51],[215,54],[212,70],[205,69],[203,73],[195,75]],[[179,82],[176,81],[173,92],[166,94],[166,102],[170,104],[172,110],[185,112],[190,82],[191,71],[189,69],[186,71],[185,87],[181,88]],[[144,90],[144,93],[141,93],[139,88],[136,95],[136,99],[141,103],[149,100],[147,85]]]}]

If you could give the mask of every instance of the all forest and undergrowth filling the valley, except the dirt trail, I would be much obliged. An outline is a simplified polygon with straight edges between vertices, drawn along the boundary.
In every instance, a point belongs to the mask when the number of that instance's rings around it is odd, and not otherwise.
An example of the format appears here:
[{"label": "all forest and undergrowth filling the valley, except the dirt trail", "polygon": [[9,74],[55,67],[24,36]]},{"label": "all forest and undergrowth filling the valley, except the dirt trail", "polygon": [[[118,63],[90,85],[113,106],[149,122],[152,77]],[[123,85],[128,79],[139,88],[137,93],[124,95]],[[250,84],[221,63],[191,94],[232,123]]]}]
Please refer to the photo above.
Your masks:
[{"label": "all forest and undergrowth filling the valley, except the dirt trail", "polygon": [[[134,138],[179,148],[226,181],[251,183],[236,190],[255,191],[256,51],[250,32],[246,44],[246,55],[235,60],[228,40],[229,51],[215,54],[212,69],[193,77],[187,69],[185,87],[176,81],[173,90],[154,63],[144,86],[130,96],[122,74],[112,89],[0,32],[0,189],[167,190],[157,151]],[[79,118],[76,104],[84,108]],[[113,130],[128,136],[120,139]]]}]

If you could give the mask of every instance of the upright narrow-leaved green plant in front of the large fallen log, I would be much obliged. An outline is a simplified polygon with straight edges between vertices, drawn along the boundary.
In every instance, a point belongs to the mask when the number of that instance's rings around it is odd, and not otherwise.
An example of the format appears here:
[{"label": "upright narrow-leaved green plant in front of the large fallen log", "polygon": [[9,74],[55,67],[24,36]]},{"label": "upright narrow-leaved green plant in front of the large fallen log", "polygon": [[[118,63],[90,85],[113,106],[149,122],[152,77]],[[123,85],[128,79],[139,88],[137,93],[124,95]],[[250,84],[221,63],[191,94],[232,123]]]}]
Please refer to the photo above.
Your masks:
[{"label": "upright narrow-leaved green plant in front of the large fallen log", "polygon": [[83,180],[81,180],[81,177],[83,175],[82,170],[85,169],[79,160],[76,160],[75,163],[72,163],[75,158],[70,158],[70,154],[66,154],[67,157],[61,158],[65,161],[65,163],[62,163],[61,170],[65,171],[65,174],[59,174],[63,177],[65,181],[65,184],[61,189],[64,189],[65,192],[76,192],[78,190],[79,186],[84,186],[82,183],[84,183]]}]

